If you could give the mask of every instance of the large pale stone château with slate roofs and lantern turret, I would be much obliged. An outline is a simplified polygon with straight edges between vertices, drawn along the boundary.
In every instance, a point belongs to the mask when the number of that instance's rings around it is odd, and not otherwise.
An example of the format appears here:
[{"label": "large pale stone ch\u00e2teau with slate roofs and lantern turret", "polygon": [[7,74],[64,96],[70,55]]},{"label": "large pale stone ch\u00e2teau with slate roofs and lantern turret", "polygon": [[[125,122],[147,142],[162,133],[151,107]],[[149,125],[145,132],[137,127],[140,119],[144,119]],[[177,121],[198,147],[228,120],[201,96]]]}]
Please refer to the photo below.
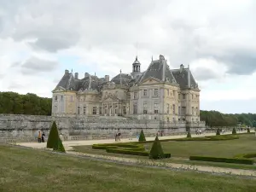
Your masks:
[{"label": "large pale stone ch\u00e2teau with slate roofs and lantern turret", "polygon": [[145,72],[136,57],[131,74],[120,71],[111,80],[65,70],[52,93],[52,116],[200,121],[200,90],[189,67],[170,69],[163,55]]}]

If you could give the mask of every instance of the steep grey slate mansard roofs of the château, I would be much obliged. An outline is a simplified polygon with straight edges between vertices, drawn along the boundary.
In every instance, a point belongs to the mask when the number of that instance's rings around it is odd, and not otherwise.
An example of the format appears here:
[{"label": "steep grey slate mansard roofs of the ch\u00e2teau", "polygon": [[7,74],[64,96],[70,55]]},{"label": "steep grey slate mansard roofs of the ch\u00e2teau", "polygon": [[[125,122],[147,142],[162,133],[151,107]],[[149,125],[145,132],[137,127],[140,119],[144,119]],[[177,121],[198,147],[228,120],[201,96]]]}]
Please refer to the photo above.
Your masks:
[{"label": "steep grey slate mansard roofs of the ch\u00e2teau", "polygon": [[[137,61],[139,62],[139,61]],[[186,89],[189,83],[194,88],[198,88],[192,73],[189,68],[184,68],[183,65],[179,69],[170,69],[164,56],[160,55],[160,60],[151,61],[148,69],[142,73],[138,79],[132,79],[131,75],[125,73],[119,73],[110,82],[114,84],[122,84],[128,87],[134,84],[140,84],[144,80],[149,78],[159,79],[162,82],[170,82],[172,84],[179,84],[181,89]],[[75,79],[73,73],[65,73],[59,84],[56,87],[61,86],[65,90],[102,90],[104,84],[108,82],[96,76],[88,75],[84,79]]]}]

